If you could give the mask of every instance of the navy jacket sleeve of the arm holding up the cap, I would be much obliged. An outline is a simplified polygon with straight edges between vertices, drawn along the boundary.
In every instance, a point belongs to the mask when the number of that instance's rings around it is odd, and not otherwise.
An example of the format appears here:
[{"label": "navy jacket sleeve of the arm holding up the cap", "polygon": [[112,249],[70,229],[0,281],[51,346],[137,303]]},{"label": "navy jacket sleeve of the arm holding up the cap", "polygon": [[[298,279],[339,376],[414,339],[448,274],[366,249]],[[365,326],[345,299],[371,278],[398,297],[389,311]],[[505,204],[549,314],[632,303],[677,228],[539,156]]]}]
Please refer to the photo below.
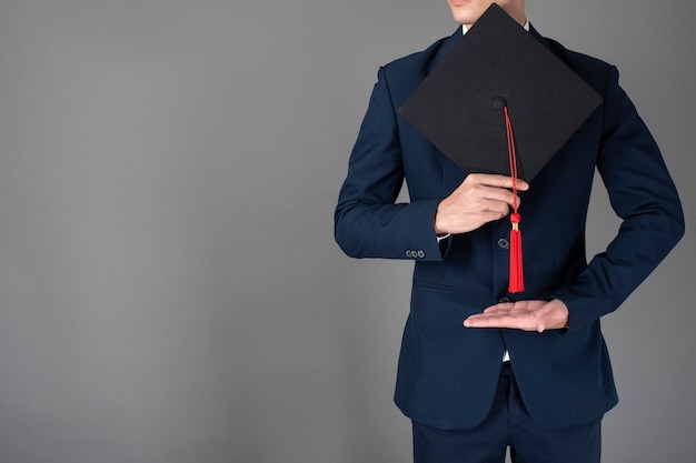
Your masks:
[{"label": "navy jacket sleeve of the arm holding up the cap", "polygon": [[440,199],[395,203],[404,177],[396,109],[380,68],[335,213],[336,241],[346,254],[443,259],[435,235]]}]

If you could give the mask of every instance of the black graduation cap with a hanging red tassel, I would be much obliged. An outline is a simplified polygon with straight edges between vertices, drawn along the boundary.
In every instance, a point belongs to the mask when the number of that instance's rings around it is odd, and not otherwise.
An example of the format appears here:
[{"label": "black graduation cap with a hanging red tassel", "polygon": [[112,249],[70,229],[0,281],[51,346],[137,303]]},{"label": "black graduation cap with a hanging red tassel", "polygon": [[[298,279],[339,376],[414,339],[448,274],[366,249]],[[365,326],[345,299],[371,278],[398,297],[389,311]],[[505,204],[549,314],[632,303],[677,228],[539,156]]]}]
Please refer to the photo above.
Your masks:
[{"label": "black graduation cap with a hanging red tassel", "polygon": [[[600,103],[591,87],[491,3],[399,113],[464,171],[531,182]],[[514,209],[511,251],[521,248]],[[523,291],[521,254],[511,252],[510,264],[510,292]]]}]

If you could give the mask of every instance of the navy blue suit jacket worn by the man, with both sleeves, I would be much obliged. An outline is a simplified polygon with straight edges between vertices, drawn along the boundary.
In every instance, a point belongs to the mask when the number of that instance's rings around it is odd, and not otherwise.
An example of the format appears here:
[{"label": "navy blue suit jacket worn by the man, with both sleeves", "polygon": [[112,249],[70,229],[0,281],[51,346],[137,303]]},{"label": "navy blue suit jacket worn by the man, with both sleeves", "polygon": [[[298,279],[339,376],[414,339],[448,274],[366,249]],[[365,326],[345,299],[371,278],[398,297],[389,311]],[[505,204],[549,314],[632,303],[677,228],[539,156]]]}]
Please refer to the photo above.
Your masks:
[{"label": "navy blue suit jacket worn by the man, with both sleeves", "polygon": [[[338,244],[354,258],[415,261],[395,401],[415,421],[468,429],[490,410],[504,351],[540,424],[561,427],[601,416],[617,403],[599,319],[613,312],[684,233],[675,185],[626,93],[618,71],[531,32],[604,97],[524,192],[526,290],[508,294],[509,220],[437,243],[438,203],[465,179],[397,110],[460,40],[379,69],[335,214]],[[473,70],[475,72],[475,70]],[[606,252],[588,263],[585,222],[595,169],[623,219]],[[395,203],[406,180],[409,203]],[[544,333],[466,329],[499,301],[560,299],[569,328]]]}]

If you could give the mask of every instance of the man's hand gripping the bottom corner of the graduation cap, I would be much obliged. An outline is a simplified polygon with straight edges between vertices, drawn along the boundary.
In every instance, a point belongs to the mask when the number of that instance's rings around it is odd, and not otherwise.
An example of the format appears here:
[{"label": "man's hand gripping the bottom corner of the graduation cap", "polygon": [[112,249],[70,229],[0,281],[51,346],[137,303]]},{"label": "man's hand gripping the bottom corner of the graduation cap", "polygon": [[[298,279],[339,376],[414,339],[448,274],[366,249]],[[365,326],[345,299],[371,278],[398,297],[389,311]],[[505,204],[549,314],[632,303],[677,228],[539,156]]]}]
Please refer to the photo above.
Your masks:
[{"label": "man's hand gripping the bottom corner of the graduation cap", "polygon": [[[503,219],[519,198],[513,193],[513,179],[505,175],[471,173],[437,208],[435,232],[466,233]],[[529,184],[517,180],[517,189],[526,191]]]}]

